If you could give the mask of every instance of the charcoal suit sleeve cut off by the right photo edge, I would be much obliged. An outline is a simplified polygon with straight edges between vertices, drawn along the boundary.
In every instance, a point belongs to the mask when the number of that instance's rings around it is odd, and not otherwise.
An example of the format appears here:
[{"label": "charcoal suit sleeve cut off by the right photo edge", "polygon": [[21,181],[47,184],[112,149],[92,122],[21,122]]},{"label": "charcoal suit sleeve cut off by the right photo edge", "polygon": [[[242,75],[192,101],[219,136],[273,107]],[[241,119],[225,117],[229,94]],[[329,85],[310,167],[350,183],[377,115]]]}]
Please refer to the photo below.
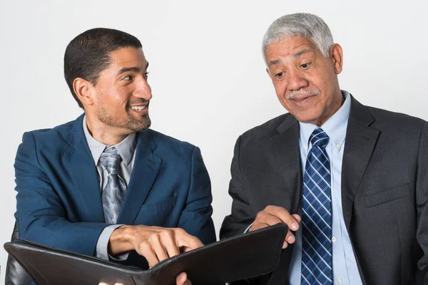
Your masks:
[{"label": "charcoal suit sleeve cut off by the right photo edge", "polygon": [[424,123],[419,141],[419,157],[416,184],[417,232],[416,238],[422,249],[417,261],[417,284],[428,284],[428,123]]}]

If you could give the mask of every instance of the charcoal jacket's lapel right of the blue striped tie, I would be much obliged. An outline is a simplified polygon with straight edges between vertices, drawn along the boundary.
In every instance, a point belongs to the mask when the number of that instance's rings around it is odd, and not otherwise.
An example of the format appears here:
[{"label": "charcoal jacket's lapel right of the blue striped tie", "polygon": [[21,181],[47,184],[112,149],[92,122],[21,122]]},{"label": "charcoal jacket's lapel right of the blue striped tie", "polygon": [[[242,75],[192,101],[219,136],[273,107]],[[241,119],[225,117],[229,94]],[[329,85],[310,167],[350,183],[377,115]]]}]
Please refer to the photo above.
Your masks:
[{"label": "charcoal jacket's lapel right of the blue striped tie", "polygon": [[374,118],[367,108],[351,97],[350,118],[342,160],[342,206],[348,231],[355,195],[379,136],[379,130],[370,127],[373,122]]}]

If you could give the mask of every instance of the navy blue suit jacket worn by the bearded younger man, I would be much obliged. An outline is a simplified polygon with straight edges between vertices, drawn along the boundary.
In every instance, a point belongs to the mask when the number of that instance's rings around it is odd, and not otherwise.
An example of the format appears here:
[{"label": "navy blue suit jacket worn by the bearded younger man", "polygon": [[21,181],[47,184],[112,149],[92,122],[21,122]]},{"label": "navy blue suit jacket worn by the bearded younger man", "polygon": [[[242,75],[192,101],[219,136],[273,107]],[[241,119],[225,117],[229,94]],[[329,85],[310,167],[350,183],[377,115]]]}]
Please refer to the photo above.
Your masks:
[{"label": "navy blue suit jacket worn by the bearded younger man", "polygon": [[[24,133],[15,160],[15,217],[21,239],[94,255],[108,224],[82,124],[83,115]],[[154,130],[137,135],[118,224],[180,227],[204,244],[215,242],[210,178],[198,147]],[[131,252],[128,262],[141,266],[136,259]]]}]

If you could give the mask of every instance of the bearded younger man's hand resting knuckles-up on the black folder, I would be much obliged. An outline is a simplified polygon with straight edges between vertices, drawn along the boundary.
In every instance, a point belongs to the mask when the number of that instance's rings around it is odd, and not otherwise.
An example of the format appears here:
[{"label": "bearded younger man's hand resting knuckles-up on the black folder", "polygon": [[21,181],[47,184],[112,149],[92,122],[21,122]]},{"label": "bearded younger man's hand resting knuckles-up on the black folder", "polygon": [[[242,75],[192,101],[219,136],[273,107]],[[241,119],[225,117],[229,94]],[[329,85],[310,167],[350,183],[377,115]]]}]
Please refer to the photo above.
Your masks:
[{"label": "bearded younger man's hand resting knuckles-up on the black folder", "polygon": [[148,227],[143,225],[118,227],[108,241],[108,251],[112,255],[135,249],[146,257],[148,265],[174,257],[180,252],[203,247],[197,237],[180,228]]}]

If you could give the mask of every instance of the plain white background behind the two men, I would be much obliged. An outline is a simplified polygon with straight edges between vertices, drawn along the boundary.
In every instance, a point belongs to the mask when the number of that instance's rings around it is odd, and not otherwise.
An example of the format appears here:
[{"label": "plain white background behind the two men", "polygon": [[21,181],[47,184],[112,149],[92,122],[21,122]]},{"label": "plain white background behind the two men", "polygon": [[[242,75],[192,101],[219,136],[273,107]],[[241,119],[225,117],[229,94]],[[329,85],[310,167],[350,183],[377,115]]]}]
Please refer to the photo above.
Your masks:
[{"label": "plain white background behind the two men", "polygon": [[423,1],[0,0],[0,265],[16,207],[14,158],[26,130],[81,114],[63,79],[63,53],[88,28],[137,36],[150,61],[152,128],[198,145],[213,186],[218,233],[230,212],[238,135],[285,113],[260,51],[283,14],[310,12],[342,45],[342,89],[357,100],[428,119],[427,4]]}]

